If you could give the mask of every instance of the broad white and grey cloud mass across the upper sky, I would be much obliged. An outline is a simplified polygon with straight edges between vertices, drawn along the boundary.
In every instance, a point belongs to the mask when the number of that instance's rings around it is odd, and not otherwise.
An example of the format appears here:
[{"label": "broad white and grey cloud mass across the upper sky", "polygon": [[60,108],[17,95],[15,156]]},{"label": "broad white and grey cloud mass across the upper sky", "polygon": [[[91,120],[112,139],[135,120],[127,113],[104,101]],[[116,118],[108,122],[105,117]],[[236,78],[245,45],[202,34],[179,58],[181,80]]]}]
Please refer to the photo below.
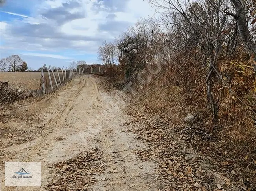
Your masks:
[{"label": "broad white and grey cloud mass across the upper sky", "polygon": [[[155,9],[143,0],[38,2],[41,4],[31,9],[32,17],[6,11],[21,16],[22,20],[0,22],[0,38],[5,43],[1,44],[2,52],[6,50],[7,53],[10,49],[17,53],[33,51],[23,55],[58,59],[73,58],[55,55],[56,50],[61,52],[68,49],[78,55],[96,54],[98,45],[102,45],[104,40],[114,40],[139,18],[155,13]],[[43,51],[53,54],[44,54]]]}]

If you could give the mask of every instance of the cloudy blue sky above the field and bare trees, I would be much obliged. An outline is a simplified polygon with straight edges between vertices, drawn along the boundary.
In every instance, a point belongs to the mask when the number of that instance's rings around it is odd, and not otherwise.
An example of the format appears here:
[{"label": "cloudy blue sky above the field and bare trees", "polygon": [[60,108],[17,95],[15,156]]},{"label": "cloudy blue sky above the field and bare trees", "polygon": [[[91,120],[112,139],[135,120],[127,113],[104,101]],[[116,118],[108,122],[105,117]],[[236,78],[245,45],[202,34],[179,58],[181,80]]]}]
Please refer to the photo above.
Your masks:
[{"label": "cloudy blue sky above the field and bare trees", "polygon": [[143,0],[6,0],[0,7],[0,58],[19,55],[33,69],[100,63],[104,40],[115,40],[155,12]]}]

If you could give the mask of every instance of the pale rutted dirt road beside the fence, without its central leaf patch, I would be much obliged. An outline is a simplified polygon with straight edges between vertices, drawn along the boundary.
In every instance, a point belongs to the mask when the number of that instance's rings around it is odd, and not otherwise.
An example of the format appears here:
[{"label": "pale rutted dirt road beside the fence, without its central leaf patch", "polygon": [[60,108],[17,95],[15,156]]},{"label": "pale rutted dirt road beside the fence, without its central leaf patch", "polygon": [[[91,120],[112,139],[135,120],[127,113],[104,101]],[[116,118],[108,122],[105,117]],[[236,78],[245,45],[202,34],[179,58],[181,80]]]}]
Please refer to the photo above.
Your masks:
[{"label": "pale rutted dirt road beside the fence, without its central leaf patch", "polygon": [[[126,132],[123,124],[128,116],[122,112],[124,102],[99,89],[93,76],[78,77],[71,83],[56,98],[26,107],[26,111],[41,118],[33,127],[40,129],[33,140],[2,149],[7,153],[1,156],[4,161],[42,162],[42,187],[4,187],[2,176],[2,190],[46,190],[57,176],[57,173],[50,173],[49,166],[95,147],[102,151],[100,158],[104,158],[106,167],[84,190],[160,190],[156,182],[157,165],[139,161],[133,152],[137,148],[146,149],[146,146],[136,140],[135,135]],[[9,126],[15,126],[21,121],[10,123]],[[2,169],[1,175],[3,172]]]}]

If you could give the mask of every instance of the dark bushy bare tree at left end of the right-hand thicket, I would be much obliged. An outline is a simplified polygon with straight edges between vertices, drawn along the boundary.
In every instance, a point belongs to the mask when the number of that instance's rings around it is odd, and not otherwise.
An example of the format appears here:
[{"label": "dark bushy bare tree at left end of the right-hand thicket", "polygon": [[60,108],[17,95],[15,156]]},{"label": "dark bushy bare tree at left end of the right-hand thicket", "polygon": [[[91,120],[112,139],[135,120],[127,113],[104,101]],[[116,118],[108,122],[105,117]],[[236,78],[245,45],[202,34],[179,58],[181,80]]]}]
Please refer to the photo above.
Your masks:
[{"label": "dark bushy bare tree at left end of the right-hand thicket", "polygon": [[160,47],[160,29],[151,19],[141,19],[117,39],[119,64],[130,78],[154,60]]}]

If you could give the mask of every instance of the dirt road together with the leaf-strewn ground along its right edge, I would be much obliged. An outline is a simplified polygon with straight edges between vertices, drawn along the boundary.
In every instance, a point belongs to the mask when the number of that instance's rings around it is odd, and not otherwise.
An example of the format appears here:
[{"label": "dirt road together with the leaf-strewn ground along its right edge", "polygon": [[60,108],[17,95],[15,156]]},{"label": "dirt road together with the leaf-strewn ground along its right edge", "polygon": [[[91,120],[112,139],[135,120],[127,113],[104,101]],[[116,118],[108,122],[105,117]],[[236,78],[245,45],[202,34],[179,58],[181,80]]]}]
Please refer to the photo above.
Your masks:
[{"label": "dirt road together with the leaf-strewn ground along its right edge", "polygon": [[[84,75],[0,111],[2,190],[254,190],[241,173],[195,150],[175,121],[184,110],[177,99],[166,109],[160,100],[120,95],[103,77]],[[42,186],[4,187],[7,161],[42,162]]]}]

